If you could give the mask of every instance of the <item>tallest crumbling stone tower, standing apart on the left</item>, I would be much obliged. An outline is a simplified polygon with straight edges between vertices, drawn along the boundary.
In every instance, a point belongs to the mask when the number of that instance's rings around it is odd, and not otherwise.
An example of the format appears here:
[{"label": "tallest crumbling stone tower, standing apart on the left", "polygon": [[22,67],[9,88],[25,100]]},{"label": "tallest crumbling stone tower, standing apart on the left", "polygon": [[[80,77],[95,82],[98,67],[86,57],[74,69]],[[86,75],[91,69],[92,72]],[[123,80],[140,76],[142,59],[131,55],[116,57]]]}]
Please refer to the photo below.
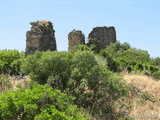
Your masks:
[{"label": "tallest crumbling stone tower, standing apart on the left", "polygon": [[30,24],[32,25],[31,30],[26,33],[26,56],[34,54],[36,50],[57,50],[55,30],[50,21],[42,20]]}]

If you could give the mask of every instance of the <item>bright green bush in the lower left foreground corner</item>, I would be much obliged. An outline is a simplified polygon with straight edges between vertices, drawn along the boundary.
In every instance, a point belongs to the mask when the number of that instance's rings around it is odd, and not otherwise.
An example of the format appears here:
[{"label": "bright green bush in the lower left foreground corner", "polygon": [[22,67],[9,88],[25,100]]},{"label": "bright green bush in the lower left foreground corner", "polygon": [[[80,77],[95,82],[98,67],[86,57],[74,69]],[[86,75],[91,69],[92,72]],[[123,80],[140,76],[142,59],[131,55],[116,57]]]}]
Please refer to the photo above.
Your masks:
[{"label": "bright green bush in the lower left foreground corner", "polygon": [[87,120],[74,97],[49,85],[32,83],[28,88],[5,92],[0,96],[1,120]]}]

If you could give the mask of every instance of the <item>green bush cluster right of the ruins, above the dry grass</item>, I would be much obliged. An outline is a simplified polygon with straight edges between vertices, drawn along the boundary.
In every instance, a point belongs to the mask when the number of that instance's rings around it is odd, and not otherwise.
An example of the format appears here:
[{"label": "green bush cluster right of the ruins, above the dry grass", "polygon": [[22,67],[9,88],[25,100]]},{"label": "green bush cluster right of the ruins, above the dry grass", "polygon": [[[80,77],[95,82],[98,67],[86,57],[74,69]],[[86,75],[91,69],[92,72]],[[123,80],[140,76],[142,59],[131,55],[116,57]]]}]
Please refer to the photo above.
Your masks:
[{"label": "green bush cluster right of the ruins, above the dry grass", "polygon": [[108,68],[113,72],[143,73],[158,78],[160,75],[160,59],[150,58],[148,51],[132,48],[128,43],[111,43],[100,51],[106,58]]}]

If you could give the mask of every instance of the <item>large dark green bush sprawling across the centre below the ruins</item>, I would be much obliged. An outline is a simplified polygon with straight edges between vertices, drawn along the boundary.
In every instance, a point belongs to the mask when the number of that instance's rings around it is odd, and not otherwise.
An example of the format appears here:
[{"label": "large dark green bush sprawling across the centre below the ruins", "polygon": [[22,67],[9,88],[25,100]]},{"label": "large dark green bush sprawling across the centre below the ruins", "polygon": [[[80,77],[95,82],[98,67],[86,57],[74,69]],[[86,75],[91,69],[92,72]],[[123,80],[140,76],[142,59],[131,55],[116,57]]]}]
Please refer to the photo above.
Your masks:
[{"label": "large dark green bush sprawling across the centre below the ruins", "polygon": [[[115,118],[114,101],[126,95],[126,85],[87,50],[36,52],[24,59],[22,71],[40,84],[49,83],[75,96],[74,103],[87,108],[97,119]],[[112,117],[111,117],[112,116]]]}]

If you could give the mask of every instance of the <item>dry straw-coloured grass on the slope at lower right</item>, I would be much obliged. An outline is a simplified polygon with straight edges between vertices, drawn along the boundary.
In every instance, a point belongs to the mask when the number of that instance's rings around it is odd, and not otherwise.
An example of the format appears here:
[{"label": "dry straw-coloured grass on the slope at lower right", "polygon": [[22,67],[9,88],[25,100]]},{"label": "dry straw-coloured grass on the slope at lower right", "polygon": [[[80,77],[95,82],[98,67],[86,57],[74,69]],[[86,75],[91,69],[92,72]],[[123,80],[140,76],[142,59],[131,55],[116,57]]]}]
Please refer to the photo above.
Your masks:
[{"label": "dry straw-coloured grass on the slope at lower right", "polygon": [[[124,74],[124,79],[128,84],[139,88],[142,92],[154,96],[157,100],[152,102],[143,99],[140,96],[131,96],[131,101],[134,104],[130,115],[158,115],[160,117],[160,81],[156,81],[145,75]],[[135,117],[135,120],[150,120],[152,117]],[[160,119],[160,118],[157,118]]]}]

